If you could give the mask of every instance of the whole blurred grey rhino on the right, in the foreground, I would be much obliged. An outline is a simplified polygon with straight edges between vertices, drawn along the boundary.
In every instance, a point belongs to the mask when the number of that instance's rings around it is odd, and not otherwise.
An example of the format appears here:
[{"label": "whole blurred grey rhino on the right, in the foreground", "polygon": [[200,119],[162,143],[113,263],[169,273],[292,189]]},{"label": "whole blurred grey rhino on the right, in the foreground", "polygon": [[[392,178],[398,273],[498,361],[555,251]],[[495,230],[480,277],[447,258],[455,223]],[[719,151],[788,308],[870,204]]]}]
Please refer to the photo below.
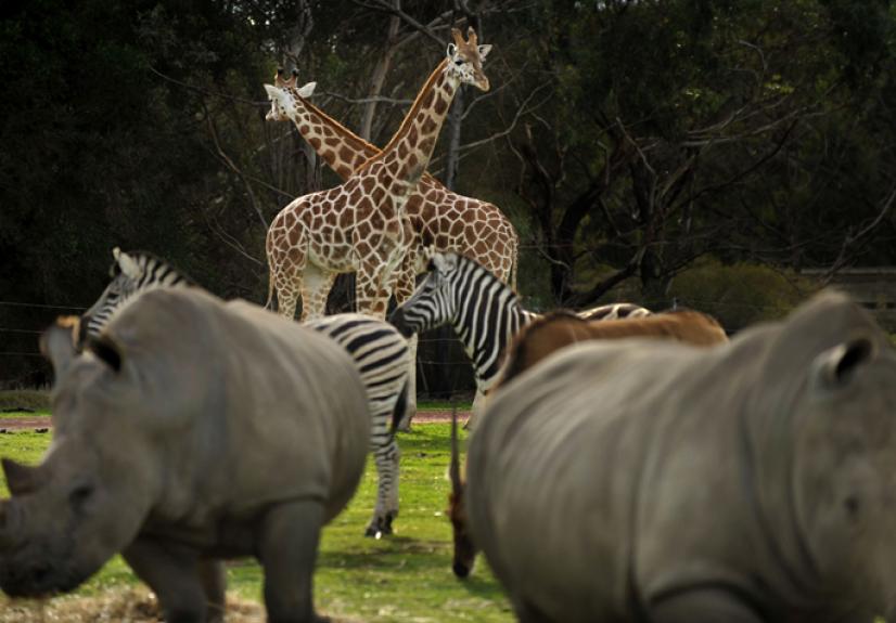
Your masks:
[{"label": "whole blurred grey rhino on the right, in the foreground", "polygon": [[569,347],[498,392],[468,479],[521,621],[896,613],[896,356],[843,295],[711,350]]}]

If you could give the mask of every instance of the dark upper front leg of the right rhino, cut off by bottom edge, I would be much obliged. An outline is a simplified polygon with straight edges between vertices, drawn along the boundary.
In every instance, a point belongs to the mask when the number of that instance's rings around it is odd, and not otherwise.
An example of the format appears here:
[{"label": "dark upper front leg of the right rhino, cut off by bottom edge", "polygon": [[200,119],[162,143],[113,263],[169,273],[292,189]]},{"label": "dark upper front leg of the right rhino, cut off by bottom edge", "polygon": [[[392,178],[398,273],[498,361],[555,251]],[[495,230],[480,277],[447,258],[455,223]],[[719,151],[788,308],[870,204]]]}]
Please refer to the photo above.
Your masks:
[{"label": "dark upper front leg of the right rhino, cut off by bottom edge", "polygon": [[726,623],[761,623],[763,616],[737,593],[695,589],[654,601],[650,608],[654,623],[692,623],[693,621],[726,621]]}]

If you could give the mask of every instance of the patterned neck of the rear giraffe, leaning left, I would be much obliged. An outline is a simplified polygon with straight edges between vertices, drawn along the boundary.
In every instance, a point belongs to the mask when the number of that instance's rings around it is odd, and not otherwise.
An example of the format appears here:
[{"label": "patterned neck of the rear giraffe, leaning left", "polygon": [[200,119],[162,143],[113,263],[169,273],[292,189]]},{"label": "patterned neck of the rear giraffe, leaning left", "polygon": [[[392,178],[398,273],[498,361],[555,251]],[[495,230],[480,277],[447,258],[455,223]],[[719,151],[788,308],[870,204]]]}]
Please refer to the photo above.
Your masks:
[{"label": "patterned neck of the rear giraffe, leaning left", "polygon": [[343,180],[350,178],[361,165],[380,154],[375,145],[358,137],[298,93],[293,92],[293,98],[296,105],[290,117],[298,133]]}]

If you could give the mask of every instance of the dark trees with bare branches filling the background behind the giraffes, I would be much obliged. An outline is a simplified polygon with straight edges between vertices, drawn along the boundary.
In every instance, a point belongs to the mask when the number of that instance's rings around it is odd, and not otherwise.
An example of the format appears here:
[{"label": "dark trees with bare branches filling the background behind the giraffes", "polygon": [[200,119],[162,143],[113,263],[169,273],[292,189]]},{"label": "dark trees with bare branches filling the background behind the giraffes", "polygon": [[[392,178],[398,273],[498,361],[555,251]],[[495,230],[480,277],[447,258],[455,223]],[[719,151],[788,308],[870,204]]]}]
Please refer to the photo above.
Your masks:
[{"label": "dark trees with bare branches filling the background behind the giraffes", "polygon": [[[33,306],[90,304],[114,246],[263,302],[267,223],[337,183],[292,127],[265,121],[263,85],[295,67],[383,145],[449,28],[469,24],[495,46],[492,90],[460,98],[430,170],[509,215],[520,290],[540,304],[622,286],[668,303],[694,265],[896,261],[886,0],[13,0],[0,352],[35,353],[66,311]],[[0,382],[40,366],[0,354]]]}]

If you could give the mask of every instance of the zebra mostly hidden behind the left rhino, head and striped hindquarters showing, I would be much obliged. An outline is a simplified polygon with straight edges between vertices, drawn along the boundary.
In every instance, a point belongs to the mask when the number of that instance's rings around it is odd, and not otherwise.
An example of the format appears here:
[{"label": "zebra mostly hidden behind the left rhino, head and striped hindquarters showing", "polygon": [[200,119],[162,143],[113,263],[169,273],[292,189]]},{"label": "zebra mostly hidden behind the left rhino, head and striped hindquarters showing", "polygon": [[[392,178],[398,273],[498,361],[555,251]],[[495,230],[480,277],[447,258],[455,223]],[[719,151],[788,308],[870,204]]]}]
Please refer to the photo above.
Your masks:
[{"label": "zebra mostly hidden behind the left rhino, head and striped hindquarters showing", "polygon": [[[159,287],[199,287],[187,275],[145,251],[113,250],[112,282],[80,319],[78,342],[97,337],[111,317],[144,291]],[[357,313],[323,316],[303,323],[329,336],[355,360],[367,388],[371,416],[370,450],[377,473],[377,496],[366,536],[392,534],[398,516],[400,452],[395,439],[407,405],[411,366],[408,341],[385,321]]]}]

